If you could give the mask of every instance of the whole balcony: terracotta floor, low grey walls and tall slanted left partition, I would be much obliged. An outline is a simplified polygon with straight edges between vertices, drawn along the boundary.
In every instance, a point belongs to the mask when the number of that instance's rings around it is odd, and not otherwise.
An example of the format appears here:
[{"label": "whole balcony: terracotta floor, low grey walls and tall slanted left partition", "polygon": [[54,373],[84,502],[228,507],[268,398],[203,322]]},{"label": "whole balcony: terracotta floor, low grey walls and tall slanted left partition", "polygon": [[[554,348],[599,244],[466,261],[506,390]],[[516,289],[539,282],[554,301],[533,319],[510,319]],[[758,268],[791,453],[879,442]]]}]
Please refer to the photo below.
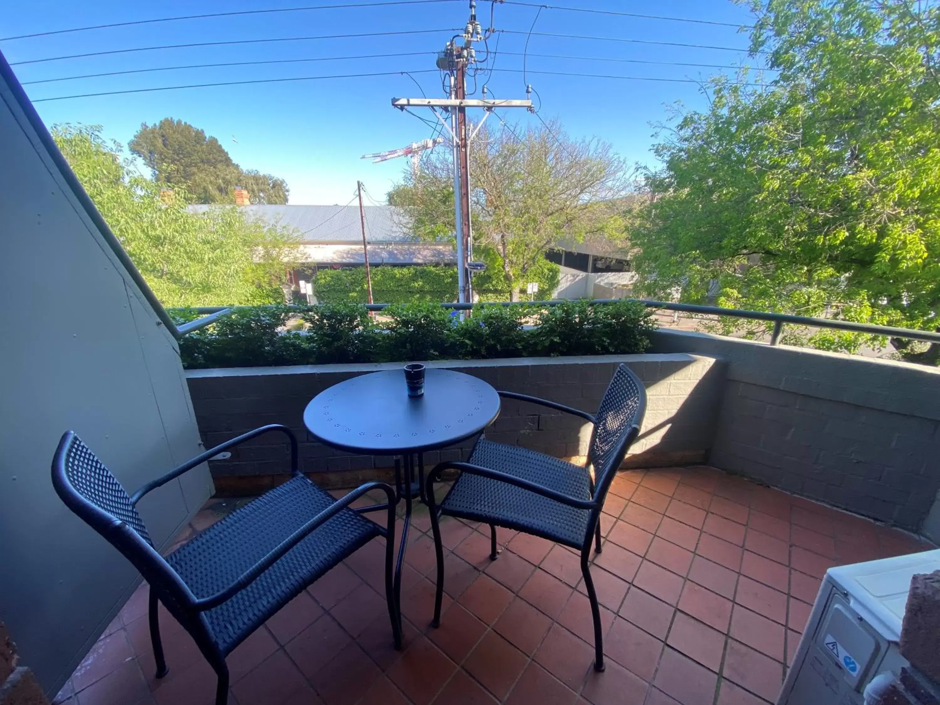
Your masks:
[{"label": "whole balcony: terracotta floor, low grey walls and tall slanted left partition", "polygon": [[[381,366],[184,372],[163,308],[5,71],[0,141],[18,168],[0,176],[0,212],[17,237],[0,281],[18,305],[0,318],[0,618],[41,688],[65,683],[60,703],[210,702],[211,669],[165,615],[171,672],[153,678],[140,576],[49,482],[59,436],[79,432],[133,488],[201,446],[283,422],[303,434],[305,471],[340,494],[388,478],[388,463],[318,444],[301,415],[322,389]],[[37,272],[54,286],[37,287]],[[478,527],[446,521],[446,612],[431,629],[425,514],[406,552],[404,650],[381,613],[374,541],[233,652],[230,701],[773,701],[829,566],[940,539],[940,370],[675,331],[652,343],[643,355],[435,363],[583,409],[619,362],[646,384],[646,423],[592,557],[603,674],[590,669],[575,556],[509,531],[490,562]],[[488,433],[573,459],[587,445],[583,426],[509,402]],[[154,493],[141,513],[155,544],[172,550],[281,481],[285,458],[258,441]]]}]

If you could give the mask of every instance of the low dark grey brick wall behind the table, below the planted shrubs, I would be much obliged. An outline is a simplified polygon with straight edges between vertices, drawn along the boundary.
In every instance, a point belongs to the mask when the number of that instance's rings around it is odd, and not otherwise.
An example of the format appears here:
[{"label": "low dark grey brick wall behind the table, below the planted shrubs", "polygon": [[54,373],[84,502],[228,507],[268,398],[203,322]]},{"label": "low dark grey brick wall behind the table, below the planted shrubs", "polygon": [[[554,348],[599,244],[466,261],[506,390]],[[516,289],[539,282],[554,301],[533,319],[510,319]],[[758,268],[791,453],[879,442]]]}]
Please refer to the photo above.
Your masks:
[{"label": "low dark grey brick wall behind the table, below the planted shrubs", "polygon": [[[628,462],[662,466],[702,462],[714,434],[714,419],[724,386],[724,370],[712,358],[688,355],[605,355],[513,360],[428,363],[456,369],[493,384],[497,389],[553,399],[595,411],[614,369],[626,362],[647,386],[649,407],[642,433]],[[356,484],[387,468],[388,458],[356,456],[316,442],[304,429],[304,409],[322,390],[382,365],[323,365],[294,368],[194,369],[186,372],[196,419],[206,446],[267,423],[283,423],[297,432],[305,472],[325,473],[324,484]],[[589,426],[577,417],[504,400],[486,437],[526,446],[557,457],[587,454]],[[465,445],[468,447],[469,443]],[[460,449],[432,451],[425,461],[457,458]],[[272,435],[235,449],[226,461],[211,462],[216,484],[225,478],[280,475],[287,472],[287,446]]]}]

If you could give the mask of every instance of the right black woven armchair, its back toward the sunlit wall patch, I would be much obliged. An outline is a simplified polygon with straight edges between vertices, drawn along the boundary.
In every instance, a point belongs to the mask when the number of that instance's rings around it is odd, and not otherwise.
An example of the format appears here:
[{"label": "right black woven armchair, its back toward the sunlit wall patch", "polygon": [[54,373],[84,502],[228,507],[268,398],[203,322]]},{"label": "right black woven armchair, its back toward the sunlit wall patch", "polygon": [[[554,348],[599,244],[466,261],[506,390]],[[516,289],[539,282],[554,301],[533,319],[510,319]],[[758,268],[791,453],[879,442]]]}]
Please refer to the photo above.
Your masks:
[{"label": "right black woven armchair, its back toward the sunlit wall patch", "polygon": [[[437,594],[432,624],[435,627],[440,624],[444,590],[444,551],[438,526],[439,514],[490,525],[490,558],[493,560],[496,558],[496,526],[516,529],[581,551],[581,572],[584,573],[594,619],[594,668],[603,671],[601,612],[588,570],[588,558],[592,538],[596,540],[597,552],[601,552],[603,499],[627,449],[639,433],[646,413],[646,390],[629,368],[620,365],[604,392],[597,415],[525,394],[499,392],[499,395],[540,404],[590,421],[594,429],[588,447],[587,466],[581,467],[519,446],[493,443],[481,437],[468,462],[441,462],[434,467],[425,487],[437,552]],[[435,506],[433,482],[448,469],[460,470],[461,474],[440,505]]]}]

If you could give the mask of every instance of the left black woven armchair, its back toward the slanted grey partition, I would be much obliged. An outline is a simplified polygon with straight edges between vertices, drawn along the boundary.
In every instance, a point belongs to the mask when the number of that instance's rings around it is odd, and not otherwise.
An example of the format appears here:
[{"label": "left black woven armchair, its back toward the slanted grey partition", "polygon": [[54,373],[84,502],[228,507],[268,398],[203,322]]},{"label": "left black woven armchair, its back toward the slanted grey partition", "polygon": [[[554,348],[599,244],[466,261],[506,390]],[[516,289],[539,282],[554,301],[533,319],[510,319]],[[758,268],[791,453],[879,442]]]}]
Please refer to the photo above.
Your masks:
[{"label": "left black woven armchair, its back toward the slanted grey partition", "polygon": [[[293,477],[168,556],[161,556],[135,509],[140,498],[217,453],[268,431],[282,431],[290,438]],[[193,636],[215,670],[215,702],[224,705],[228,699],[227,654],[305,587],[377,536],[386,537],[385,597],[395,647],[401,647],[392,574],[394,491],[384,482],[369,482],[342,499],[334,499],[299,472],[297,440],[285,426],[264,426],[233,438],[148,482],[133,495],[128,495],[81,439],[68,431],[55,451],[53,485],[69,509],[111,542],[149,583],[150,639],[157,678],[167,673],[158,600]],[[353,501],[370,490],[381,490],[387,496],[385,526],[350,509]],[[384,509],[385,505],[376,508]]]}]

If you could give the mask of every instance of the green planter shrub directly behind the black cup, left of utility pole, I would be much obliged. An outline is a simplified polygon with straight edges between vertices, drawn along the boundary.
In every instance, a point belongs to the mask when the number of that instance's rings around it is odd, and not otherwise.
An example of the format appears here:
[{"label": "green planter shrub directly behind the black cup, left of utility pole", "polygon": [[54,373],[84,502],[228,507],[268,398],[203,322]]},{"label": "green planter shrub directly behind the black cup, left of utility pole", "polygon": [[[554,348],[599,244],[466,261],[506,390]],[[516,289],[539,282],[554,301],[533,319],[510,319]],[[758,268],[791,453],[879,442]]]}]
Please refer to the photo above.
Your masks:
[{"label": "green planter shrub directly behind the black cup, left of utility pole", "polygon": [[393,304],[384,340],[389,360],[435,360],[456,354],[454,317],[437,304]]}]

